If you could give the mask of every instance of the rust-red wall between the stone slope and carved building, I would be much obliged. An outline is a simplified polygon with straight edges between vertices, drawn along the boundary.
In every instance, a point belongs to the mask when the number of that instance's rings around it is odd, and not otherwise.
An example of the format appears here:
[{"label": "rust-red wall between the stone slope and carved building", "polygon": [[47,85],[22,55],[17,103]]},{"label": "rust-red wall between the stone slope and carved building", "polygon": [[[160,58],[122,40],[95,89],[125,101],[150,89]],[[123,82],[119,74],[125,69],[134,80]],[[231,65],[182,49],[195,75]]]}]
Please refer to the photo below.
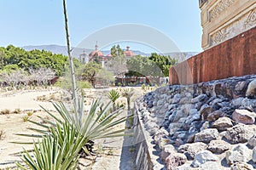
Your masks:
[{"label": "rust-red wall between the stone slope and carved building", "polygon": [[170,84],[208,82],[256,74],[256,27],[169,70]]}]

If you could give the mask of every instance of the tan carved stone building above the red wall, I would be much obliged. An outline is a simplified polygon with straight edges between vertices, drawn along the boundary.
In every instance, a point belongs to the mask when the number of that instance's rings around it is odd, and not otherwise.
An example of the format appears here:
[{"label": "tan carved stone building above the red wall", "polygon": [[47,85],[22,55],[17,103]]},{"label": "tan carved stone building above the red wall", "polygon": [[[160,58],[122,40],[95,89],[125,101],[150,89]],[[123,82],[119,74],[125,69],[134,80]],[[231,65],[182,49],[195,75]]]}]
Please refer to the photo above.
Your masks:
[{"label": "tan carved stone building above the red wall", "polygon": [[255,0],[199,0],[201,47],[211,48],[256,26]]}]

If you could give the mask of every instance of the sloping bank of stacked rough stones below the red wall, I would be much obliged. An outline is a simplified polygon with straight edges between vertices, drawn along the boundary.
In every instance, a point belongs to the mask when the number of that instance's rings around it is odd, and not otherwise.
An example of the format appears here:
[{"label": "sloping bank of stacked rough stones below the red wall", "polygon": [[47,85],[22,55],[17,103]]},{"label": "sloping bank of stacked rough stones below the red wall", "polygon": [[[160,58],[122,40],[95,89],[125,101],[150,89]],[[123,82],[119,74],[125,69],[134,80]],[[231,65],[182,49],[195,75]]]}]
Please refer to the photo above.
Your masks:
[{"label": "sloping bank of stacked rough stones below the red wall", "polygon": [[256,168],[256,75],[166,86],[139,102],[166,169]]}]

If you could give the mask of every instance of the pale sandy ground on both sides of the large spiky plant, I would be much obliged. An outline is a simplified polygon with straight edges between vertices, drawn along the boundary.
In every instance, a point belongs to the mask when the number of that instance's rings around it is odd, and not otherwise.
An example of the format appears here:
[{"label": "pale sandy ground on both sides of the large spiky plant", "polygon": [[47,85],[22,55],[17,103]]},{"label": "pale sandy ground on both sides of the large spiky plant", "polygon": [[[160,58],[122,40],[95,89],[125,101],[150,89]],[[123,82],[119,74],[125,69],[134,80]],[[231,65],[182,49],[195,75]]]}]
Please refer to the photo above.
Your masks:
[{"label": "pale sandy ground on both sides of the large spiky plant", "polygon": [[[89,98],[102,97],[103,100],[108,99],[109,89],[88,90],[85,92]],[[0,94],[0,111],[8,109],[9,111],[15,111],[20,109],[20,114],[7,114],[0,115],[0,133],[3,132],[3,138],[0,139],[0,169],[6,169],[8,167],[15,167],[15,161],[20,161],[20,156],[13,156],[12,154],[22,151],[23,147],[30,149],[30,145],[24,144],[12,144],[11,142],[24,142],[32,141],[26,137],[15,135],[15,133],[33,133],[29,131],[27,127],[34,127],[31,122],[24,122],[24,116],[27,116],[27,112],[33,111],[34,113],[29,118],[33,121],[40,122],[41,120],[37,116],[49,118],[39,105],[42,105],[49,111],[55,111],[50,102],[42,102],[36,100],[38,96],[50,95],[55,93],[56,90],[48,91],[25,91],[19,93],[5,93]],[[137,92],[136,96],[141,95],[141,92]],[[124,99],[120,99],[120,101]],[[126,114],[126,112],[124,112]],[[125,127],[125,122],[117,129]],[[133,167],[132,156],[132,144],[125,144],[125,138],[116,139],[102,139],[96,141],[95,150],[96,156],[88,156],[86,159],[80,160],[80,169],[123,169],[130,170]],[[129,138],[128,138],[129,139]],[[131,139],[130,139],[131,140]],[[125,146],[123,146],[125,144]]]}]

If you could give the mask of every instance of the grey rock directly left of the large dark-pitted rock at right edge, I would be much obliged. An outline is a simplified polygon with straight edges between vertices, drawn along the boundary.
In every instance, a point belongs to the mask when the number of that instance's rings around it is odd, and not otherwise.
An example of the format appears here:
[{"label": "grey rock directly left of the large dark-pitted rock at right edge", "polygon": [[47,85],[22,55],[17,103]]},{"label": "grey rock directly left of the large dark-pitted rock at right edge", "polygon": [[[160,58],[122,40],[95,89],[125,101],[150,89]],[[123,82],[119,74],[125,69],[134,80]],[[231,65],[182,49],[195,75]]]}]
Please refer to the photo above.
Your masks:
[{"label": "grey rock directly left of the large dark-pitted rock at right edge", "polygon": [[218,138],[218,130],[216,128],[207,128],[200,133],[195,134],[195,142],[209,143],[211,140]]}]

